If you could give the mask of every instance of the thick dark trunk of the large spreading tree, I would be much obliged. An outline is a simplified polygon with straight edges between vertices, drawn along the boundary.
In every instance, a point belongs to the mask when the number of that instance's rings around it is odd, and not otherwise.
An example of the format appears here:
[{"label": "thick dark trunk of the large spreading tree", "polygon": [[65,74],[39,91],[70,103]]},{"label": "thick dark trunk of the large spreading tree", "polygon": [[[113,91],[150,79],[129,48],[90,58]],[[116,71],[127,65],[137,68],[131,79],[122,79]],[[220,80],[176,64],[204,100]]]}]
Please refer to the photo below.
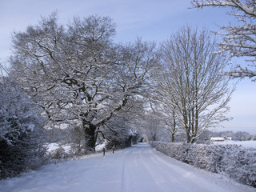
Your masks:
[{"label": "thick dark trunk of the large spreading tree", "polygon": [[91,123],[82,123],[85,132],[86,150],[95,151],[95,130],[96,126]]}]

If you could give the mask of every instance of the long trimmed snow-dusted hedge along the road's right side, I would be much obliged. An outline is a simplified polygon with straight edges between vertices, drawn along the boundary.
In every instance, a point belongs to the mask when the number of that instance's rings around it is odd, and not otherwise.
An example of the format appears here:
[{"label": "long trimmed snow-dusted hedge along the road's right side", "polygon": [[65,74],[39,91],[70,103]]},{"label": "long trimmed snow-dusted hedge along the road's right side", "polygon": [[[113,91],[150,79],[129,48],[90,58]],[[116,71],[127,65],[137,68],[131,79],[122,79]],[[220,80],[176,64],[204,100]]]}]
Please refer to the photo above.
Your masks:
[{"label": "long trimmed snow-dusted hedge along the road's right side", "polygon": [[238,145],[151,142],[156,150],[214,173],[256,187],[256,149]]}]

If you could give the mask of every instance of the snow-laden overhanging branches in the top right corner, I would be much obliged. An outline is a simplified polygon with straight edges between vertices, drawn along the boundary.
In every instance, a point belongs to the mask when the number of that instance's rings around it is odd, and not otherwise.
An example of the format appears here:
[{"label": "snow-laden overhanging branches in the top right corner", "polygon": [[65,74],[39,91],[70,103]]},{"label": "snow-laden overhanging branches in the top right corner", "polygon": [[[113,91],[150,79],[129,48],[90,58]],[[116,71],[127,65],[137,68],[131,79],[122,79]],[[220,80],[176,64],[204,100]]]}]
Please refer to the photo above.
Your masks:
[{"label": "snow-laden overhanging branches in the top right corner", "polygon": [[[254,0],[193,0],[192,4],[196,8],[205,6],[230,7],[230,15],[238,19],[238,25],[222,26],[221,30],[223,42],[220,48],[222,51],[230,51],[230,57],[245,57],[246,66],[239,64],[236,70],[227,71],[228,74],[235,78],[254,78],[256,76],[255,57],[256,57],[256,3]],[[255,80],[255,79],[254,79]]]}]

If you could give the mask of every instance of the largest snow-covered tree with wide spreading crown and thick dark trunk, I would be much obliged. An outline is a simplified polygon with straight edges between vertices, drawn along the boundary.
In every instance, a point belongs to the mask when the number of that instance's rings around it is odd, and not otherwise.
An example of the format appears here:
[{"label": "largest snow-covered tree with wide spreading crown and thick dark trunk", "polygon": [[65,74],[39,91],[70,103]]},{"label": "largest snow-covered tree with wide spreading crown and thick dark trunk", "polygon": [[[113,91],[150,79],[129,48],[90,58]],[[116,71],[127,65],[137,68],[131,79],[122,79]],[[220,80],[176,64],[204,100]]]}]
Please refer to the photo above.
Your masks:
[{"label": "largest snow-covered tree with wide spreading crown and thick dark trunk", "polygon": [[50,123],[82,123],[88,150],[95,133],[142,93],[154,63],[154,45],[114,44],[108,17],[74,18],[67,26],[57,15],[13,36],[11,74],[37,98]]}]

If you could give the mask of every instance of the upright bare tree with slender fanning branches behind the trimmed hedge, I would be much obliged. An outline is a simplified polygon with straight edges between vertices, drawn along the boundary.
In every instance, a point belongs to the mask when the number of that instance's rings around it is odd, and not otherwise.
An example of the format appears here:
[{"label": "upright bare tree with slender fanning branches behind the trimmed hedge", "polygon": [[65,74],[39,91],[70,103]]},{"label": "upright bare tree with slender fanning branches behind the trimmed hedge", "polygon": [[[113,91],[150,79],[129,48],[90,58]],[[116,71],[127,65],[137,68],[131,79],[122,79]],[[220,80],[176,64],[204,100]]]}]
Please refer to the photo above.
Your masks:
[{"label": "upright bare tree with slender fanning branches behind the trimmed hedge", "polygon": [[214,41],[206,30],[198,34],[184,27],[163,42],[159,69],[154,72],[158,102],[169,108],[181,123],[187,142],[227,120],[227,103],[232,90],[219,72],[226,64],[224,54],[214,53]]}]

